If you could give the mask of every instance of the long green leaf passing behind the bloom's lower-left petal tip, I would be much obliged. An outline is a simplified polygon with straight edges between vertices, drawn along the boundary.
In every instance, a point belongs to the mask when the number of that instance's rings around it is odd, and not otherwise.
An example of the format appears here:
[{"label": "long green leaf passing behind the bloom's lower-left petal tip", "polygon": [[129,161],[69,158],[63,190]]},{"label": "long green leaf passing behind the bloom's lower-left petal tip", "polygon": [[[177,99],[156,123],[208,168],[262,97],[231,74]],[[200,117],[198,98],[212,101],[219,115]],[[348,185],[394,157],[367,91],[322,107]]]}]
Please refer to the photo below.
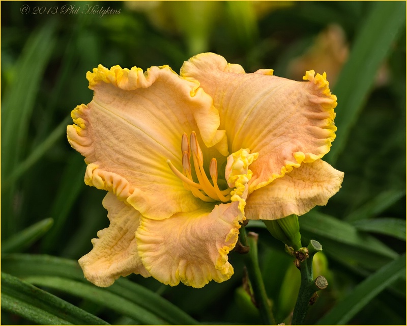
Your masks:
[{"label": "long green leaf passing behind the bloom's lower-left petal tip", "polygon": [[[70,259],[47,255],[12,254],[2,257],[2,268],[8,273],[21,278],[34,276],[58,277],[80,281],[88,286],[92,286],[84,280],[78,263]],[[112,286],[102,291],[117,296],[120,295],[123,299],[147,309],[169,323],[197,324],[195,319],[157,293],[124,278],[120,278]]]}]

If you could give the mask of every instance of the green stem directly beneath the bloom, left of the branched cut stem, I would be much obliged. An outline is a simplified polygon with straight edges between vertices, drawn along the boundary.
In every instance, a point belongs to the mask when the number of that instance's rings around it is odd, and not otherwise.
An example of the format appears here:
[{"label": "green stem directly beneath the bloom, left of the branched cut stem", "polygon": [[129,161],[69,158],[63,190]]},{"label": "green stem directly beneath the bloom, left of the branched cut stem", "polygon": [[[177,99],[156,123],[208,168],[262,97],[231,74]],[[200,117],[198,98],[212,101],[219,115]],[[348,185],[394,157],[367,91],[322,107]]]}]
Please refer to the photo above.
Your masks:
[{"label": "green stem directly beneath the bloom, left of the branched cut stem", "polygon": [[257,237],[256,233],[249,232],[249,234],[246,235],[245,228],[241,229],[240,241],[243,246],[250,247],[249,253],[244,256],[245,264],[250,284],[253,289],[254,300],[260,312],[260,317],[265,324],[275,325],[276,321],[273,316],[270,300],[267,297],[266,288],[258,265]]}]

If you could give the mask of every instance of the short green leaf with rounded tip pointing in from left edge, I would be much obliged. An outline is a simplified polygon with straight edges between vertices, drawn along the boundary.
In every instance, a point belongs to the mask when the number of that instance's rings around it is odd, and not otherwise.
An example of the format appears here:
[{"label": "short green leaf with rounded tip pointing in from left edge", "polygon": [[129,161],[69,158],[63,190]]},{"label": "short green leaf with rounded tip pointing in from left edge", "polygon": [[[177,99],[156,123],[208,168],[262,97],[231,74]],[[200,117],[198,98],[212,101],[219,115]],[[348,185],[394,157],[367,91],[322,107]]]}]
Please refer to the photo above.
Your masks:
[{"label": "short green leaf with rounded tip pointing in from left edge", "polygon": [[52,226],[53,219],[42,220],[13,235],[2,243],[2,254],[19,252],[44,235]]}]

